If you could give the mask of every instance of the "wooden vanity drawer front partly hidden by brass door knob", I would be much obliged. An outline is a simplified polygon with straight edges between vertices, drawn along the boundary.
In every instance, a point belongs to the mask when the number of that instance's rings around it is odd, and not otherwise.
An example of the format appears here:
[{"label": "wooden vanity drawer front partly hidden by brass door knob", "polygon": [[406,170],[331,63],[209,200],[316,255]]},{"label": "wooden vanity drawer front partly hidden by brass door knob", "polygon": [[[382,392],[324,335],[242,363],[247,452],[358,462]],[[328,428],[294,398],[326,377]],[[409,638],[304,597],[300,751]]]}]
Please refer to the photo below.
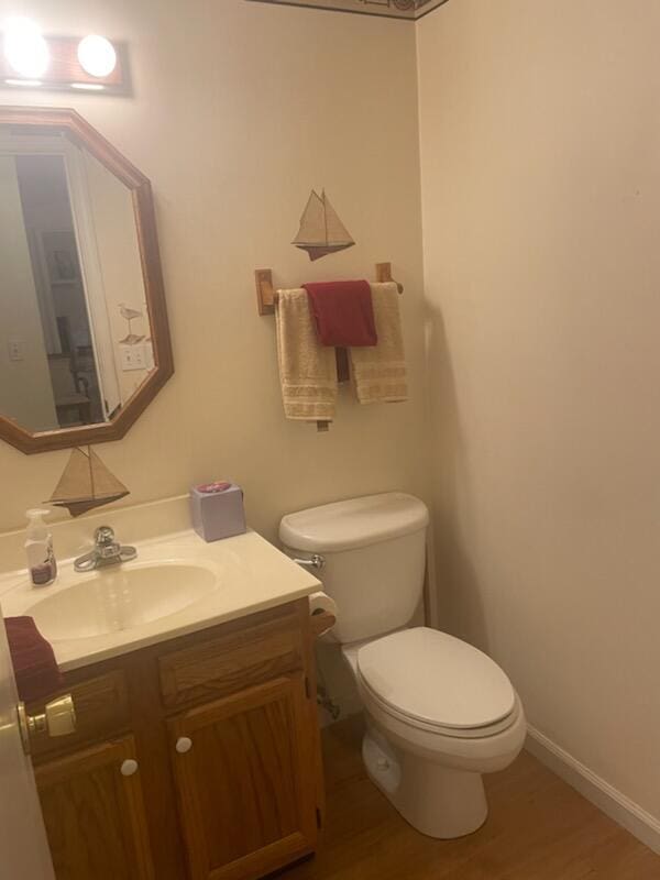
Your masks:
[{"label": "wooden vanity drawer front partly hidden by brass door knob", "polygon": [[30,703],[28,713],[34,715],[44,711],[44,703],[57,696],[70,694],[76,710],[76,732],[68,736],[52,738],[47,733],[30,735],[30,749],[34,763],[80,745],[101,739],[130,725],[129,696],[124,673],[121,670],[108,672],[79,684],[65,685],[47,700]]}]

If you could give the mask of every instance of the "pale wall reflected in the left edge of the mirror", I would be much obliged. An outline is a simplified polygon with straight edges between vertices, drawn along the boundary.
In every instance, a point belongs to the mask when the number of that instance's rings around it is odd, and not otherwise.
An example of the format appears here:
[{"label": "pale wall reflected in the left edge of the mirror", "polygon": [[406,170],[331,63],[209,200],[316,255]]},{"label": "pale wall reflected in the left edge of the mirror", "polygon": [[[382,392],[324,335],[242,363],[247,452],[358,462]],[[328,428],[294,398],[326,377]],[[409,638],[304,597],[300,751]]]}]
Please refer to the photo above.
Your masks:
[{"label": "pale wall reflected in the left edge of the mirror", "polygon": [[[57,417],[13,156],[0,156],[0,411],[48,430]],[[12,342],[20,343],[18,361]]]}]

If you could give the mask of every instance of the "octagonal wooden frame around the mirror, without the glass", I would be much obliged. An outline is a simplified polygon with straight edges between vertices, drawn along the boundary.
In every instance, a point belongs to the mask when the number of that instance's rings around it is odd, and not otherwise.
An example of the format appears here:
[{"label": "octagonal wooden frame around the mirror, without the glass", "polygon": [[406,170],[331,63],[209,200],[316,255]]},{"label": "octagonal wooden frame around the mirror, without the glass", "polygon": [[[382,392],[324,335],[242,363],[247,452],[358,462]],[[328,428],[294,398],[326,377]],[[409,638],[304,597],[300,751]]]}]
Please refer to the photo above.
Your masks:
[{"label": "octagonal wooden frame around the mirror, without the glass", "polygon": [[0,415],[0,439],[26,454],[121,440],[174,373],[151,183],[75,110],[0,107],[0,124],[66,130],[131,190],[154,352],[154,369],[110,421],[32,433]]}]

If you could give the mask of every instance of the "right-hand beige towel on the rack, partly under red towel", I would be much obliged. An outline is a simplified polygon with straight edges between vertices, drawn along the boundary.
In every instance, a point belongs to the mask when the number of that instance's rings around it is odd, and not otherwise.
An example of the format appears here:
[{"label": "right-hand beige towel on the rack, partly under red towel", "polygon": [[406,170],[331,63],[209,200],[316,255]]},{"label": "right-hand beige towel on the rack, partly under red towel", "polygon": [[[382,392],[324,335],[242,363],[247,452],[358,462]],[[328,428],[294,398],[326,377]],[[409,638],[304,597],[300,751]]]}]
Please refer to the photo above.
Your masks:
[{"label": "right-hand beige towel on the rack, partly under red towel", "polygon": [[396,284],[372,284],[378,344],[351,349],[351,372],[361,404],[394,404],[408,399],[406,355]]}]

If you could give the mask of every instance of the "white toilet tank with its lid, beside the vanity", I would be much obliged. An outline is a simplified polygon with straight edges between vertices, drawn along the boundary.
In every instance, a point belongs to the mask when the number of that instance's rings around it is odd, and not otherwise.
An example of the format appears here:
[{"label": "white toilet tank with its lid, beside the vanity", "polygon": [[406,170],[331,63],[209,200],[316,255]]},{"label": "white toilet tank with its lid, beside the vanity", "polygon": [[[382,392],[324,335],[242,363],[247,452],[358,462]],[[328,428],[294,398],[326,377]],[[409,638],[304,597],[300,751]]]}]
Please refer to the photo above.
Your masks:
[{"label": "white toilet tank with its lid, beside the vanity", "polygon": [[337,602],[332,635],[342,644],[406,626],[424,588],[429,513],[403,492],[288,514],[279,539],[292,557],[326,560],[323,590]]}]

